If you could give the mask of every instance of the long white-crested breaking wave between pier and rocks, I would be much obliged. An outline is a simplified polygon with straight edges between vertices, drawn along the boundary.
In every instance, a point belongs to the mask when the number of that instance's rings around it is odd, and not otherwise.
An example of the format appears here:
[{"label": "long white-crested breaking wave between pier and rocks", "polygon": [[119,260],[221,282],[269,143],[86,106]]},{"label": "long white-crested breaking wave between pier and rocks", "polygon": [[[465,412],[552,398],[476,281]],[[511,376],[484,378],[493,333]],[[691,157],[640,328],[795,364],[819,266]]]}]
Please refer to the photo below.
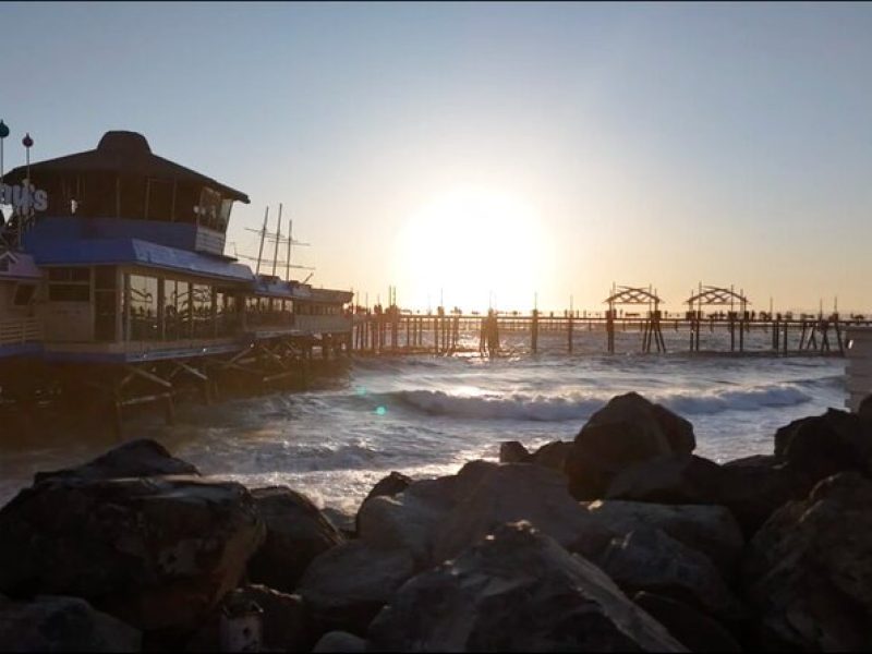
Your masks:
[{"label": "long white-crested breaking wave between pier and rocks", "polygon": [[[562,422],[585,420],[601,409],[609,397],[595,396],[455,396],[440,390],[404,390],[388,393],[413,410],[429,415],[473,420],[518,420]],[[796,384],[777,384],[750,388],[730,388],[713,392],[681,391],[647,396],[681,415],[701,415],[725,411],[759,411],[794,407],[812,400]]]}]

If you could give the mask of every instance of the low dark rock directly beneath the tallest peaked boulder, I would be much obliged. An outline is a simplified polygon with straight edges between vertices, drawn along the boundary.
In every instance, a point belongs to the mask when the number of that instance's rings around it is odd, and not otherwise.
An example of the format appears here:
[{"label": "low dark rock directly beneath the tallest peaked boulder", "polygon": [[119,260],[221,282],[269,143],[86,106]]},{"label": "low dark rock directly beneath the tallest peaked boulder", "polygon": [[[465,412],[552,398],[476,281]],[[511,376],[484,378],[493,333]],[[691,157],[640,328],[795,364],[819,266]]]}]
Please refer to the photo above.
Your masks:
[{"label": "low dark rock directly beneath the tallest peaked boulder", "polygon": [[722,468],[693,455],[663,455],[619,472],[604,497],[658,504],[719,504]]}]

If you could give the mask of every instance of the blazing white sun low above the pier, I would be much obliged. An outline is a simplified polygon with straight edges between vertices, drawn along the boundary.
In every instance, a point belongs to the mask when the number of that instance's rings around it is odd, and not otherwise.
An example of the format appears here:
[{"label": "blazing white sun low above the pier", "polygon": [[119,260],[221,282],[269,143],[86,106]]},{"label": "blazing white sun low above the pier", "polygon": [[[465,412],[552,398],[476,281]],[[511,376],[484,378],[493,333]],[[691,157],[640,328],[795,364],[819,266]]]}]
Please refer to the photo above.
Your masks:
[{"label": "blazing white sun low above the pier", "polygon": [[399,304],[529,311],[548,259],[545,241],[523,198],[476,187],[431,198],[397,235]]}]

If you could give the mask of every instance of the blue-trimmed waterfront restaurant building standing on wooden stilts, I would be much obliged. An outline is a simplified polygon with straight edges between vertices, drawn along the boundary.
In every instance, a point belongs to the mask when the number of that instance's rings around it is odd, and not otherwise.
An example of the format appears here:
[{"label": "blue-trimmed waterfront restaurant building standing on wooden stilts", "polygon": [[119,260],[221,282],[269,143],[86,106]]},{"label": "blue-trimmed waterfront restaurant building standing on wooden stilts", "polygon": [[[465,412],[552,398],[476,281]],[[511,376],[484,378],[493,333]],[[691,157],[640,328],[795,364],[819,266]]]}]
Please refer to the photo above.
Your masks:
[{"label": "blue-trimmed waterfront restaurant building standing on wooden stilts", "polygon": [[179,392],[208,401],[219,382],[288,378],[304,374],[313,349],[347,348],[352,293],[227,256],[231,208],[247,195],[154,155],[141,134],[108,132],[94,150],[5,179],[48,196],[40,215],[5,226],[39,278],[38,358],[64,395],[108,401],[119,424],[128,405],[160,401],[171,417]]}]

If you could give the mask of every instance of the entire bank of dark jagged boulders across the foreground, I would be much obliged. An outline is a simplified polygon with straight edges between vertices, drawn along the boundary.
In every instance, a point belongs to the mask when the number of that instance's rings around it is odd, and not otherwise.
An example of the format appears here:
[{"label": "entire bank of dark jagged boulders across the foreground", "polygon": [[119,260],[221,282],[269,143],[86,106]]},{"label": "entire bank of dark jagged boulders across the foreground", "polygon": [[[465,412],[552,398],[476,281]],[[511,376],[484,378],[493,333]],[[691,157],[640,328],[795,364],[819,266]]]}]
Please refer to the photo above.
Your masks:
[{"label": "entire bank of dark jagged boulders across the foreground", "polygon": [[723,465],[694,448],[689,422],[629,393],[572,443],[506,443],[499,463],[438,479],[391,473],[340,525],[291,488],[247,489],[126,444],[37,474],[0,510],[0,640],[872,647],[872,421],[831,410],[779,429],[772,456]]}]

